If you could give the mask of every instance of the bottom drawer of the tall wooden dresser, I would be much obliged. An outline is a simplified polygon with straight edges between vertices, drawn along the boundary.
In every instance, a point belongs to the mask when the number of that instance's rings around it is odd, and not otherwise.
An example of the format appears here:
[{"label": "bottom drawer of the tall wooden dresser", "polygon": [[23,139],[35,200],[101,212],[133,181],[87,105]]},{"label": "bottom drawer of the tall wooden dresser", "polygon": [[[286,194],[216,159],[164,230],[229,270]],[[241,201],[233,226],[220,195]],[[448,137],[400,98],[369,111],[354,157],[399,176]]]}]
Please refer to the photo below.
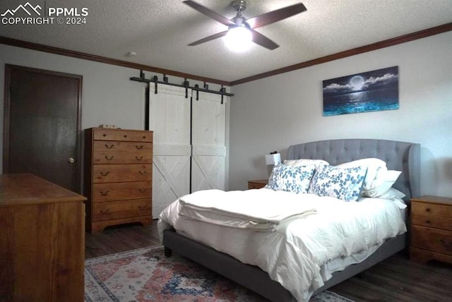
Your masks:
[{"label": "bottom drawer of the tall wooden dresser", "polygon": [[93,222],[151,215],[150,198],[109,201],[93,205]]}]

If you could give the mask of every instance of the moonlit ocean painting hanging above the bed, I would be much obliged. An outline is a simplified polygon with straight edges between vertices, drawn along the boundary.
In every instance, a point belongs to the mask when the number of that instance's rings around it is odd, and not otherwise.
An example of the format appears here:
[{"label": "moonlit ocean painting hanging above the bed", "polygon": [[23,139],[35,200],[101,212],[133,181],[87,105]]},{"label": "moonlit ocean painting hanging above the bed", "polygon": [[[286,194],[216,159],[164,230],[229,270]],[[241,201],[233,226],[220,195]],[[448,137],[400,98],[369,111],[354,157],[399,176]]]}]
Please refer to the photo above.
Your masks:
[{"label": "moonlit ocean painting hanging above the bed", "polygon": [[398,66],[323,81],[323,116],[398,109]]}]

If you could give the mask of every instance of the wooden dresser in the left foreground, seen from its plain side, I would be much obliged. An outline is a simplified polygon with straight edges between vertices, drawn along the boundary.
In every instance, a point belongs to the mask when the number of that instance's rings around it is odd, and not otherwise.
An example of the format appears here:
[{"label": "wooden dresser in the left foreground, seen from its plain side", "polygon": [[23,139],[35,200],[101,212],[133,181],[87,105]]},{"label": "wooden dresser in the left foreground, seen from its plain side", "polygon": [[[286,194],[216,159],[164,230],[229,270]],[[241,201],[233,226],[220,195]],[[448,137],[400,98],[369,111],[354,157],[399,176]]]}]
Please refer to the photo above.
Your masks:
[{"label": "wooden dresser in the left foreground, seen from its plain side", "polygon": [[0,301],[83,301],[85,199],[32,174],[0,174]]}]

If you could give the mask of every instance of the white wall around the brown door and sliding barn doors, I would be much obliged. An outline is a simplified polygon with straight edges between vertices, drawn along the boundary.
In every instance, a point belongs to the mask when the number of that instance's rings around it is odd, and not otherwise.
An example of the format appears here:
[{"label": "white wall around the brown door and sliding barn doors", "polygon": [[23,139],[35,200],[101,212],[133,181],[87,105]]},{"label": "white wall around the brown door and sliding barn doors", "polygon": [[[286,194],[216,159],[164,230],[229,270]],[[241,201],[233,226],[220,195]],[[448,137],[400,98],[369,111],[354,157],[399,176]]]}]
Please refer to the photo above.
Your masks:
[{"label": "white wall around the brown door and sliding barn doors", "polygon": [[[145,84],[129,80],[133,76],[139,76],[138,70],[0,44],[0,133],[3,133],[4,123],[5,64],[83,75],[82,129],[97,127],[104,123],[124,129],[144,129]],[[161,74],[150,72],[145,73],[145,78],[151,78],[153,75],[158,75],[159,80],[162,80]],[[168,78],[170,83],[182,84],[184,81],[182,78],[172,76]],[[187,80],[190,81],[191,86],[198,84],[203,87],[200,81]],[[220,85],[208,84],[210,90],[220,90]],[[226,87],[226,90],[230,91],[230,87]],[[230,100],[229,97],[225,99],[227,99],[226,126],[228,128]],[[227,147],[228,135],[227,132]],[[0,158],[2,157],[3,139],[0,138]],[[228,167],[228,160],[226,157],[226,167]],[[1,171],[2,161],[0,160],[0,173]]]}]

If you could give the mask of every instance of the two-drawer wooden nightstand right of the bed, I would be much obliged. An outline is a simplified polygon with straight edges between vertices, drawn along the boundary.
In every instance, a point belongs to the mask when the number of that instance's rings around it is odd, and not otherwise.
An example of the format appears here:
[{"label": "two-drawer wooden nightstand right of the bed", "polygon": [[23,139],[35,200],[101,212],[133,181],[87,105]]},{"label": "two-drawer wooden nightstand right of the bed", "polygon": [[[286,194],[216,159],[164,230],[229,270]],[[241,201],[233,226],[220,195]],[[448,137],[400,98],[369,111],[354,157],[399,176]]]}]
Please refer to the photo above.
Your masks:
[{"label": "two-drawer wooden nightstand right of the bed", "polygon": [[410,259],[452,263],[452,198],[411,199]]}]

